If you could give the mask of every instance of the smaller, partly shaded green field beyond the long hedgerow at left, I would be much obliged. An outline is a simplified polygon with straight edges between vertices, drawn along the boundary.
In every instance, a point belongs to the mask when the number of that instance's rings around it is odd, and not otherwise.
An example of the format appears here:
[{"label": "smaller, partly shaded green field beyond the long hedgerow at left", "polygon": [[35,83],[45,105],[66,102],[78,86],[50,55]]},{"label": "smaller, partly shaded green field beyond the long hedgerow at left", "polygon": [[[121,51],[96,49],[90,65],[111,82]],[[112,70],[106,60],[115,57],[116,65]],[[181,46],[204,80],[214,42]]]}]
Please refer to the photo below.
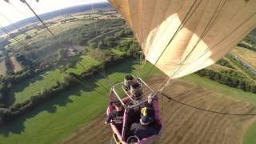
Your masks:
[{"label": "smaller, partly shaded green field beyond the long hedgerow at left", "polygon": [[[87,69],[90,68],[90,66],[96,66],[100,64],[100,62],[96,61],[94,58],[90,58],[88,55],[82,56],[80,63]],[[81,74],[82,71],[85,71],[82,66],[77,65],[74,68],[66,70],[66,72]],[[39,74],[34,78],[29,78],[24,82],[14,85],[14,87],[10,90],[9,103],[23,102],[24,100],[30,98],[31,95],[39,93],[43,89],[49,89],[50,87],[56,85],[56,82],[62,82],[66,74],[62,73],[58,69],[50,70],[46,73]]]}]

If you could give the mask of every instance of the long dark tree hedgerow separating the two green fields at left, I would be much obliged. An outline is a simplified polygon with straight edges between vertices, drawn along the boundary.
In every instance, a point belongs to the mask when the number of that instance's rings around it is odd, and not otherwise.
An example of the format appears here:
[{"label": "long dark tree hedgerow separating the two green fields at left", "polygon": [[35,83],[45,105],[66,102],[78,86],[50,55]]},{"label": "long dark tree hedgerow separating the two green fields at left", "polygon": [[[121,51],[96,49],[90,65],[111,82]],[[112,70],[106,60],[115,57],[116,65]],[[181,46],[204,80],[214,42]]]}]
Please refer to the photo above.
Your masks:
[{"label": "long dark tree hedgerow separating the two green fields at left", "polygon": [[13,106],[9,107],[0,108],[0,123],[13,121],[14,118],[26,113],[26,111],[31,110],[34,108],[34,106],[38,106],[39,104],[50,100],[50,98],[58,96],[58,94],[64,90],[69,90],[72,86],[78,84],[77,78],[88,79],[94,74],[98,74],[102,70],[102,67],[107,68],[116,65],[118,62],[122,62],[122,60],[128,57],[129,56],[126,54],[114,56],[110,59],[107,59],[105,62],[102,62],[102,65],[93,66],[90,68],[90,70],[80,75],[70,74],[64,79],[64,82],[56,82],[55,86],[48,90],[42,90],[42,92],[38,94],[34,94],[25,102],[14,104]]}]

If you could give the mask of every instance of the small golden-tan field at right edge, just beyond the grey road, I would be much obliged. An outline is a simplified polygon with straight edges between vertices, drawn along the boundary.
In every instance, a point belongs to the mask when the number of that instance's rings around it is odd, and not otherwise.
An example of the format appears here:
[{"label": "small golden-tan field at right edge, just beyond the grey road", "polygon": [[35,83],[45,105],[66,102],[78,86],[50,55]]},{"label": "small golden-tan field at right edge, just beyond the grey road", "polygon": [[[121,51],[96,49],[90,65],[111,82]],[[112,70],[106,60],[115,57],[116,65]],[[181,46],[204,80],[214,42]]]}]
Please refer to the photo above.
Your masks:
[{"label": "small golden-tan field at right edge, just beyond the grey road", "polygon": [[234,54],[237,54],[238,57],[242,58],[242,60],[248,62],[248,64],[256,68],[256,52],[255,51],[237,46],[232,50],[232,52],[234,52]]}]

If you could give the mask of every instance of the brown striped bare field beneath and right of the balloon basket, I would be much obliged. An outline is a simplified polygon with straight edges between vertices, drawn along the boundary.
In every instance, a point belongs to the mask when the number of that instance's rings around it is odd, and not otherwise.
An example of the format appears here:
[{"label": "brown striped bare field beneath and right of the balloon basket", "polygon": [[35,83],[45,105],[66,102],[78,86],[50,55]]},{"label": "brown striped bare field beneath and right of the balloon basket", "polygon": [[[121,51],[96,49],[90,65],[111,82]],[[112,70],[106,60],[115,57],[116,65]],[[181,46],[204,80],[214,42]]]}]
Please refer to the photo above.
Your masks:
[{"label": "brown striped bare field beneath and right of the balloon basket", "polygon": [[[162,77],[150,78],[148,83],[157,89]],[[226,113],[256,114],[256,107],[248,102],[216,94],[211,90],[193,86],[186,82],[171,82],[164,90],[166,94],[180,102],[198,106],[207,110],[218,110]],[[160,97],[162,106],[162,97]],[[248,126],[256,120],[253,116],[229,116],[210,114],[182,106],[176,102],[163,99],[162,118],[164,130],[161,144],[237,144],[242,143],[242,137]],[[62,143],[109,143],[110,127],[104,125],[105,114],[86,126],[78,129],[70,138]]]}]

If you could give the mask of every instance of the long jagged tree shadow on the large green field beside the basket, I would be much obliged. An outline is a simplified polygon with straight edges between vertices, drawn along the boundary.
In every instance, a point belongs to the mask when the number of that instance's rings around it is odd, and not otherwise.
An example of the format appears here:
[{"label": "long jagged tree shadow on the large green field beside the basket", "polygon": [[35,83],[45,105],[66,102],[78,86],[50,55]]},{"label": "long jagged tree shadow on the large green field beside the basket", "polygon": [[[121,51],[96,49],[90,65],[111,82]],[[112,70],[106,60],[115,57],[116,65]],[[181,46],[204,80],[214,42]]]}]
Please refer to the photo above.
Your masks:
[{"label": "long jagged tree shadow on the large green field beside the basket", "polygon": [[[131,58],[126,60],[125,62],[118,62],[115,64],[114,68],[108,68],[106,70],[106,74],[109,75],[114,73],[131,73],[131,71],[134,70],[134,67],[132,67],[134,64],[135,62]],[[99,84],[98,80],[100,79],[101,81]],[[87,82],[90,82],[90,86],[78,84],[77,86],[70,88],[70,90],[62,91],[61,94],[50,99],[48,102],[44,102],[41,105],[34,107],[33,110],[26,112],[26,114],[23,114],[19,118],[16,118],[13,122],[9,122],[5,126],[2,126],[0,128],[0,135],[8,137],[11,133],[21,134],[26,129],[26,120],[34,118],[42,112],[57,112],[57,106],[66,106],[67,103],[73,102],[69,98],[70,95],[77,95],[78,97],[86,96],[82,95],[82,91],[94,91],[96,88],[102,85],[104,85],[107,88],[110,88],[110,86],[107,86],[106,81],[102,79],[104,79],[104,77],[97,74],[94,76],[94,78],[86,79]],[[106,90],[104,92],[103,90],[97,92],[99,95],[101,94],[101,96],[103,96],[104,98],[106,98],[105,95],[108,94],[108,91]],[[33,119],[30,120],[32,121]]]}]

